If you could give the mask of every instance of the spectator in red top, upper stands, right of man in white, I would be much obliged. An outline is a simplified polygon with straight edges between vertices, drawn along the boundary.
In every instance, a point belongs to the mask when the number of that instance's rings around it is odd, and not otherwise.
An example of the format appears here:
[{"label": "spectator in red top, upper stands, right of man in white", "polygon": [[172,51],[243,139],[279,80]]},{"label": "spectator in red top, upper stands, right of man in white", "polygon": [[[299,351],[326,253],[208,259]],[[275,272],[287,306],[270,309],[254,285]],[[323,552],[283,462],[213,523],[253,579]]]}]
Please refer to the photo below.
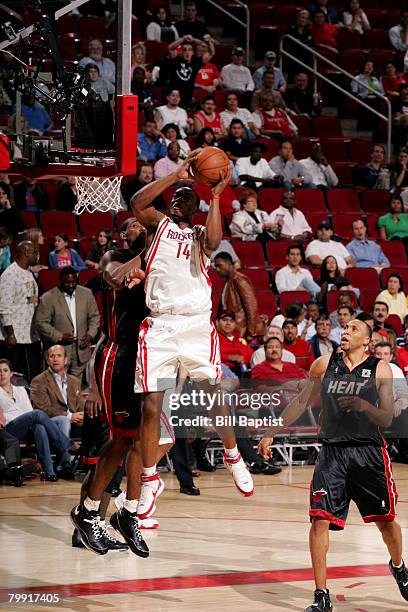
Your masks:
[{"label": "spectator in red top, upper stands, right of man in white", "polygon": [[253,121],[262,136],[282,142],[297,136],[298,128],[289,115],[275,104],[271,94],[264,94],[260,100],[261,107],[253,114]]}]

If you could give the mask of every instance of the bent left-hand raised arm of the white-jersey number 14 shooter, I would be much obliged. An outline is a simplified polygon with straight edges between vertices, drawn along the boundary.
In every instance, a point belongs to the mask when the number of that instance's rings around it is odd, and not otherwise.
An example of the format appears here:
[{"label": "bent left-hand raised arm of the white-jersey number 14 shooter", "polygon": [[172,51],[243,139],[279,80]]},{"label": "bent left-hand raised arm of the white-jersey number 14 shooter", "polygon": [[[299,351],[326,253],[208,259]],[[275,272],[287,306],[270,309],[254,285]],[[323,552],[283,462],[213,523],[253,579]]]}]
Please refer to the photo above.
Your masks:
[{"label": "bent left-hand raised arm of the white-jersey number 14 shooter", "polygon": [[188,154],[184,164],[180,166],[177,172],[172,172],[162,179],[157,179],[157,181],[149,183],[140,191],[135,193],[130,201],[133,214],[135,215],[136,219],[148,230],[155,229],[164,217],[163,213],[156,210],[152,205],[153,200],[161,195],[165,189],[171,187],[174,183],[177,183],[177,181],[187,179],[191,180],[188,169],[193,159],[195,159],[200,153],[201,149],[191,151]]}]

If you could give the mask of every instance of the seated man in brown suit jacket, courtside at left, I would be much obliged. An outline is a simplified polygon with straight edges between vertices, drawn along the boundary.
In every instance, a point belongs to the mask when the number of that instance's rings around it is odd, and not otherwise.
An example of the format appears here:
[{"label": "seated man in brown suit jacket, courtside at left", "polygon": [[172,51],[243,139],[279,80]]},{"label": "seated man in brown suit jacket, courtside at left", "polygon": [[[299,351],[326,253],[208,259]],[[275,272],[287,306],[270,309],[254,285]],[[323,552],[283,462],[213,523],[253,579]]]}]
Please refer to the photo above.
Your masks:
[{"label": "seated man in brown suit jacket, courtside at left", "polygon": [[63,346],[55,344],[48,349],[47,363],[45,372],[31,381],[31,401],[69,438],[71,425],[82,425],[84,418],[81,383],[65,371],[68,358]]}]

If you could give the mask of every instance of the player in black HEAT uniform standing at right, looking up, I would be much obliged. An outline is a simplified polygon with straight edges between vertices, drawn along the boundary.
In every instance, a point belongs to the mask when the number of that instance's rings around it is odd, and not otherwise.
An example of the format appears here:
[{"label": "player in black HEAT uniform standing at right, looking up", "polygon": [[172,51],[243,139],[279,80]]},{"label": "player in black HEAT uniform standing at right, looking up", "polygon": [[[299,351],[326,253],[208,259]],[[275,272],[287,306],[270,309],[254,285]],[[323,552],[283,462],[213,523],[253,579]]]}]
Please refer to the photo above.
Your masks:
[{"label": "player in black HEAT uniform standing at right, looking up", "polygon": [[320,393],[322,448],[310,487],[310,552],[316,583],[315,599],[305,612],[332,610],[326,589],[329,529],[345,526],[353,500],[365,523],[375,522],[391,556],[389,567],[401,595],[408,601],[408,572],[402,560],[402,535],[395,521],[397,492],[381,428],[394,415],[392,371],[366,349],[371,328],[350,321],[338,353],[319,357],[310,368],[310,381],[282,412],[282,427],[271,428],[259,444],[271,456],[271,443],[280,430],[296,422]]}]

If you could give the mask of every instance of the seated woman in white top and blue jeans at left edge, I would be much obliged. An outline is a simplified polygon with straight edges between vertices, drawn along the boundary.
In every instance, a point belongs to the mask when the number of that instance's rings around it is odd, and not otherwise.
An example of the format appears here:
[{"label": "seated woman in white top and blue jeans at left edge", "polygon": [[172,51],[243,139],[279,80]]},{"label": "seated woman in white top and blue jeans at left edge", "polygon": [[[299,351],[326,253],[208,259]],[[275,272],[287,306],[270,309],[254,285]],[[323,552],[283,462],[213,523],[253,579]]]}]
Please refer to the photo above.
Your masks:
[{"label": "seated woman in white top and blue jeans at left edge", "polygon": [[[42,410],[33,410],[24,387],[12,384],[13,366],[8,359],[0,359],[0,424],[5,431],[18,440],[24,440],[32,429],[39,459],[44,468],[41,480],[56,482],[58,477],[73,480],[69,438]],[[54,469],[50,443],[61,453]],[[57,475],[58,474],[58,475]]]}]

